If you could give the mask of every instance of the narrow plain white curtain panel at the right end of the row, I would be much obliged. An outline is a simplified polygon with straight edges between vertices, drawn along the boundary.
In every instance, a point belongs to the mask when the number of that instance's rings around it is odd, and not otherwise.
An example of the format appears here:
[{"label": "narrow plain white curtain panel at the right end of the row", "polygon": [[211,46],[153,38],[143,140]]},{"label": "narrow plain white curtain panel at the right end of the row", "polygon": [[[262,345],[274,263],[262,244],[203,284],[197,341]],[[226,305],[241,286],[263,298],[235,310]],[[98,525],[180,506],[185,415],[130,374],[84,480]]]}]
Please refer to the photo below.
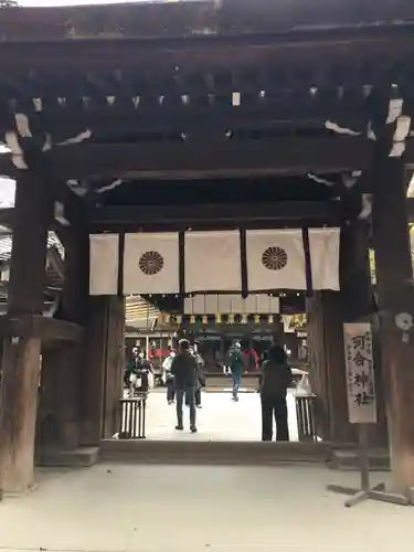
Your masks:
[{"label": "narrow plain white curtain panel at the right end of the row", "polygon": [[309,229],[314,289],[339,290],[339,229]]}]

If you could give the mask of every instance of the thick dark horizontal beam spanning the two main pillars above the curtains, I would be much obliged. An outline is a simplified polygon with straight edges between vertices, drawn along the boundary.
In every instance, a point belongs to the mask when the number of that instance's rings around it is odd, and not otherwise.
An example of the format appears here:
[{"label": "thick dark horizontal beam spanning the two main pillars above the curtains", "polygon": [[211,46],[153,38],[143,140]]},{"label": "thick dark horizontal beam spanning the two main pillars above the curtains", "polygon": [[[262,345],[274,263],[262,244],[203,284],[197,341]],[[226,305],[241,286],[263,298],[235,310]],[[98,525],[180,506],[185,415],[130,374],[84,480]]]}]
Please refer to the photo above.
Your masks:
[{"label": "thick dark horizontal beam spanning the two main pillars above the curtains", "polygon": [[[205,142],[82,144],[44,153],[54,181],[114,178],[205,178],[328,173],[364,169],[372,142],[364,138],[280,138]],[[0,157],[10,167],[8,155]],[[14,171],[15,172],[15,171]]]}]

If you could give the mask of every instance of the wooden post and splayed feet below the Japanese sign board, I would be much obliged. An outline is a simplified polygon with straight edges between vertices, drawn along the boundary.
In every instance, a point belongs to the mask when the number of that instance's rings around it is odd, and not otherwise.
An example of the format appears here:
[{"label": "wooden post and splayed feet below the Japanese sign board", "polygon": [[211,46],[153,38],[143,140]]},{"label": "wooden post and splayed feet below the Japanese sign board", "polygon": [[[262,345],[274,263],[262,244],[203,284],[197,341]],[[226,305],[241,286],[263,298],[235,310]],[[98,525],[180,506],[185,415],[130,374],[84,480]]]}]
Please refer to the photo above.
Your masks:
[{"label": "wooden post and splayed feet below the Japanese sign board", "polygon": [[351,496],[349,500],[346,501],[344,506],[351,508],[357,506],[364,500],[379,500],[381,502],[390,502],[400,506],[410,506],[410,500],[403,495],[393,493],[385,491],[385,485],[383,482],[370,486],[370,461],[368,456],[368,425],[360,424],[358,432],[358,464],[361,475],[361,488],[354,489],[352,487],[342,487],[340,485],[328,485],[327,489],[332,492],[339,492],[341,495]]}]

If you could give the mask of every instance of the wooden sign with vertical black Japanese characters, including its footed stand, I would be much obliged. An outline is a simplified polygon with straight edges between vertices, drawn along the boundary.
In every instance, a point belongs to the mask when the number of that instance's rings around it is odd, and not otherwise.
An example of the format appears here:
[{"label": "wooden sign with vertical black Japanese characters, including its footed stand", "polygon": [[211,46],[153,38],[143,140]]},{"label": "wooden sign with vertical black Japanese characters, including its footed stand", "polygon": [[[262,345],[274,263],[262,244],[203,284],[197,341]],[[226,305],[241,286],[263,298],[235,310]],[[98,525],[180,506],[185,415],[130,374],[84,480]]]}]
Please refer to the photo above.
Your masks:
[{"label": "wooden sign with vertical black Japanese characters, including its footed stand", "polygon": [[400,506],[410,506],[407,496],[385,491],[385,485],[370,486],[370,461],[368,428],[376,423],[376,396],[371,325],[354,322],[343,325],[343,341],[347,368],[348,415],[351,424],[358,425],[358,460],[361,488],[353,489],[328,485],[328,490],[351,496],[344,506],[351,508],[364,500],[379,500]]}]

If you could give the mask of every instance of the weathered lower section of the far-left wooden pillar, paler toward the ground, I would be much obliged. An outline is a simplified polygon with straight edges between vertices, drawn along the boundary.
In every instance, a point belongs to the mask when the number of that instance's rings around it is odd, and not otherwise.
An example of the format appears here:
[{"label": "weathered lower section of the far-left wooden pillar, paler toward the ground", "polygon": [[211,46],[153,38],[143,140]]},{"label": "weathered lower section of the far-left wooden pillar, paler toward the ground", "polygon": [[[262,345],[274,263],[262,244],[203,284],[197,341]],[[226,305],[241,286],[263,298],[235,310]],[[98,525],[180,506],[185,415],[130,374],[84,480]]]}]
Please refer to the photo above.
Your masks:
[{"label": "weathered lower section of the far-left wooden pillar, paler toward the ground", "polygon": [[41,364],[39,338],[4,343],[0,401],[0,489],[26,492],[33,484],[34,434]]}]

